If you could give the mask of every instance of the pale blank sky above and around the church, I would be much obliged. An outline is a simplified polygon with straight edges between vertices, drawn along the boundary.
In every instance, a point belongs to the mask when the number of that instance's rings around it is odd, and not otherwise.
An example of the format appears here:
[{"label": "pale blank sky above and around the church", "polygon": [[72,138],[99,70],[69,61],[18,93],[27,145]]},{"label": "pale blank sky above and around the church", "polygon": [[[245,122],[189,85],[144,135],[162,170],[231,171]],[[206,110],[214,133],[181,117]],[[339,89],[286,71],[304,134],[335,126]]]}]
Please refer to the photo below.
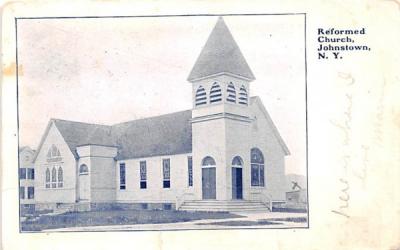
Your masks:
[{"label": "pale blank sky above and around the church", "polygon": [[[20,146],[37,148],[48,121],[112,125],[192,108],[186,79],[218,17],[18,20]],[[306,173],[304,17],[224,21],[286,142],[286,173]]]}]

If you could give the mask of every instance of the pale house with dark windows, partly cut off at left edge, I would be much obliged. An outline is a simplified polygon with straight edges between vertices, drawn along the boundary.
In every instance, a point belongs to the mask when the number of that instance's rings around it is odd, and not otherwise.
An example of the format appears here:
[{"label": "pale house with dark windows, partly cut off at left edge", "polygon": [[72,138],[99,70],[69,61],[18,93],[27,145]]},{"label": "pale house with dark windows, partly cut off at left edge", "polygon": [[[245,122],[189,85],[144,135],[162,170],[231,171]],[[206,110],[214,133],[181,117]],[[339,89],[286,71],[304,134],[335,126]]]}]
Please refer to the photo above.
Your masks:
[{"label": "pale house with dark windows, partly cut off at left edge", "polygon": [[19,149],[19,199],[21,214],[35,210],[35,151],[30,147]]}]

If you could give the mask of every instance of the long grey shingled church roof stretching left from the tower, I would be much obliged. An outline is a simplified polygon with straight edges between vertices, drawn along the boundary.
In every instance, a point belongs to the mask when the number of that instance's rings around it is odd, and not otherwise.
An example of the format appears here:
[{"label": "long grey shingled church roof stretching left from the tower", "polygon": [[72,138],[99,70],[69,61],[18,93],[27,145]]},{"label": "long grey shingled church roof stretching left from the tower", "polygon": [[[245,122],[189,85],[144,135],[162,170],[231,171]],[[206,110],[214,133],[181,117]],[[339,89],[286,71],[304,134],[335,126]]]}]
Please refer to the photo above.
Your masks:
[{"label": "long grey shingled church roof stretching left from the tower", "polygon": [[191,118],[188,110],[113,126],[51,119],[37,152],[54,123],[75,158],[79,157],[76,148],[83,145],[117,147],[117,160],[190,153]]}]

